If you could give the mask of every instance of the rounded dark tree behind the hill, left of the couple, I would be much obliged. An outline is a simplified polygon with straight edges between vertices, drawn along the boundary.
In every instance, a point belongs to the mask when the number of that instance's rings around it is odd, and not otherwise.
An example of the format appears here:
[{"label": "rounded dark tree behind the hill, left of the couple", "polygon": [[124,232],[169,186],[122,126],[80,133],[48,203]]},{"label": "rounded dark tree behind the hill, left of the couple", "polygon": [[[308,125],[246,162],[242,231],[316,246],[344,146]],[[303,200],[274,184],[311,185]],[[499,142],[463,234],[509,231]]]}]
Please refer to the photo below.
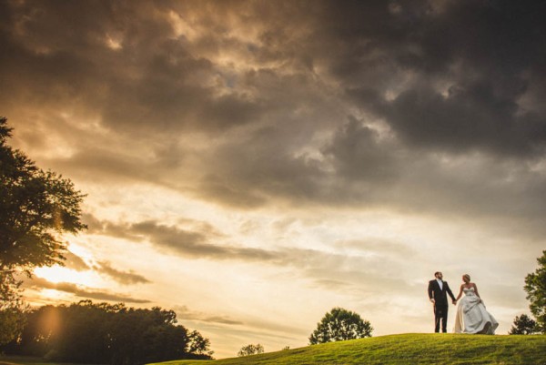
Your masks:
[{"label": "rounded dark tree behind the hill, left of the couple", "polygon": [[341,340],[354,340],[371,337],[371,327],[368,320],[360,318],[359,314],[342,308],[334,308],[326,313],[317,325],[317,330],[311,333],[309,343],[316,345]]}]

